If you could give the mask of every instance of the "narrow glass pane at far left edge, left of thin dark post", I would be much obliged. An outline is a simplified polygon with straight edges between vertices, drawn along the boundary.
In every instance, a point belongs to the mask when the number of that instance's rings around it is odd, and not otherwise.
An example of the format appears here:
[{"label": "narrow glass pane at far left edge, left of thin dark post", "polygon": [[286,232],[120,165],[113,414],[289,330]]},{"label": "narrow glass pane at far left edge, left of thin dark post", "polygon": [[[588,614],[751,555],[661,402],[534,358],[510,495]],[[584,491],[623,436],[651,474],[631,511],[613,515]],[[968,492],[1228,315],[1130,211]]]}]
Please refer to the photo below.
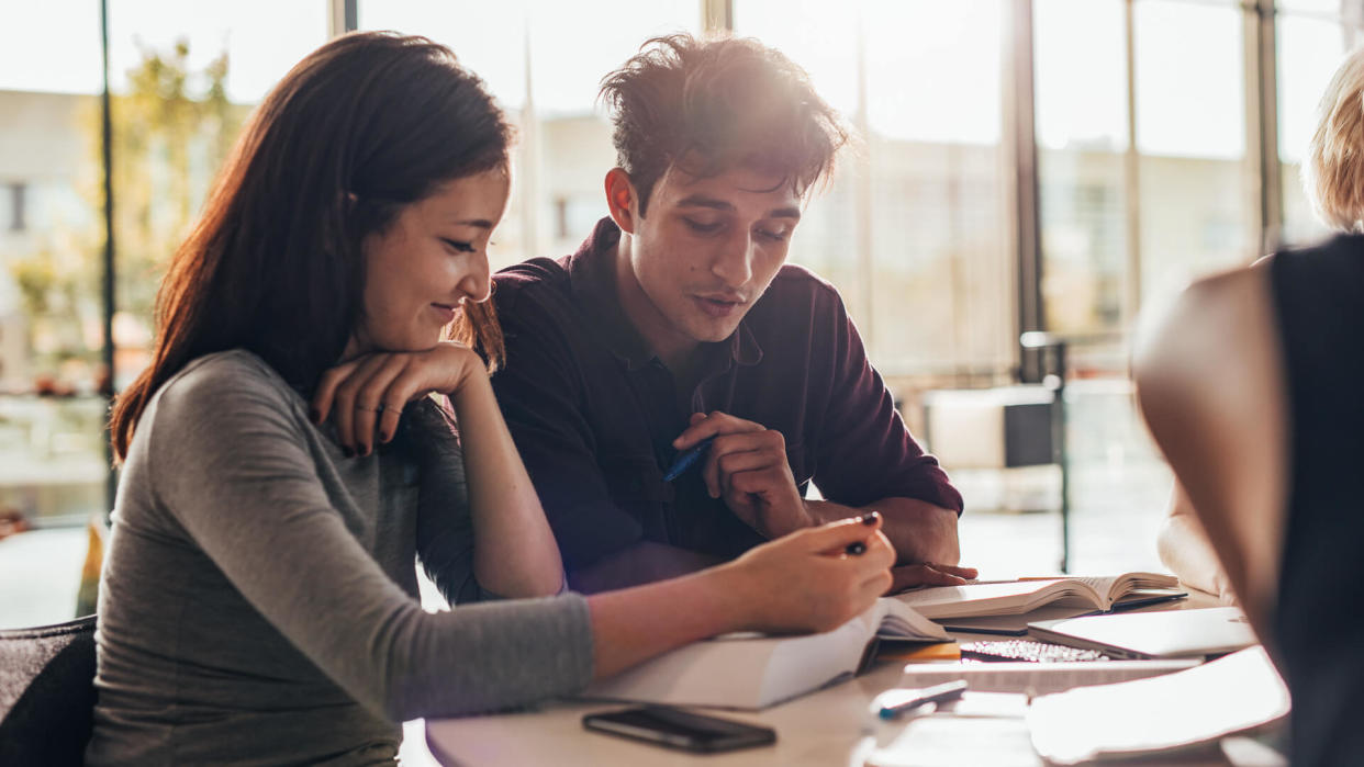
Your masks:
[{"label": "narrow glass pane at far left edge, left of thin dark post", "polygon": [[[101,87],[98,4],[59,0],[5,8],[0,23],[0,515],[16,512],[44,527],[83,523],[105,507],[105,398],[98,394],[104,377],[104,195],[95,94]],[[33,541],[38,549],[31,549]],[[50,553],[42,541],[40,534],[5,541],[0,582],[14,578],[27,586],[4,594],[0,614],[72,617],[74,590],[49,605],[46,584],[33,586],[31,572],[10,569],[23,565],[25,550]],[[30,564],[41,565],[48,553],[35,553]],[[30,599],[38,613],[22,609],[19,602]],[[0,625],[15,625],[10,620],[4,616]]]}]

